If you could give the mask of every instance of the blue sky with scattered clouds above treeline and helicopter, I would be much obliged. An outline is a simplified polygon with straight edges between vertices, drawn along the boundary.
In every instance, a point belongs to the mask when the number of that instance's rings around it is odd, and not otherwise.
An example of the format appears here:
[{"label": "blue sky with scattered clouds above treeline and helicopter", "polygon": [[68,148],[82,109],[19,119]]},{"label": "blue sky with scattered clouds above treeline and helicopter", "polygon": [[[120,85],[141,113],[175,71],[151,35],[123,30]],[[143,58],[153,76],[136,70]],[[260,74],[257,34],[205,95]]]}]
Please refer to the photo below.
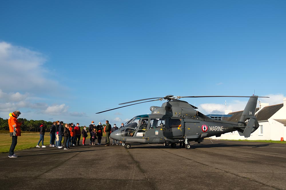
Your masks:
[{"label": "blue sky with scattered clouds above treeline and helicopter", "polygon": [[[285,97],[286,1],[4,1],[0,117],[120,125],[200,95]],[[185,98],[204,114],[247,98]]]}]

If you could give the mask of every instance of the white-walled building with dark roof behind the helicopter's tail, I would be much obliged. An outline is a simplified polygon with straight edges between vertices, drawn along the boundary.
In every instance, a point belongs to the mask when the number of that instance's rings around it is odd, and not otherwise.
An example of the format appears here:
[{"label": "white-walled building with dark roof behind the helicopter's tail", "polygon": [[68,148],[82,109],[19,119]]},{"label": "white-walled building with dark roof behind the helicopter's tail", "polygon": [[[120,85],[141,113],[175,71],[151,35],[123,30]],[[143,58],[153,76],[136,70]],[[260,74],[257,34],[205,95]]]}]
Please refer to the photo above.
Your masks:
[{"label": "white-walled building with dark roof behind the helicopter's tail", "polygon": [[[237,131],[222,134],[220,137],[212,136],[212,139],[228,140],[286,140],[286,98],[282,104],[271,105],[259,103],[259,108],[255,110],[255,116],[259,123],[259,128],[253,132],[249,138],[240,136]],[[243,111],[229,113],[232,117],[223,120],[238,122]]]}]

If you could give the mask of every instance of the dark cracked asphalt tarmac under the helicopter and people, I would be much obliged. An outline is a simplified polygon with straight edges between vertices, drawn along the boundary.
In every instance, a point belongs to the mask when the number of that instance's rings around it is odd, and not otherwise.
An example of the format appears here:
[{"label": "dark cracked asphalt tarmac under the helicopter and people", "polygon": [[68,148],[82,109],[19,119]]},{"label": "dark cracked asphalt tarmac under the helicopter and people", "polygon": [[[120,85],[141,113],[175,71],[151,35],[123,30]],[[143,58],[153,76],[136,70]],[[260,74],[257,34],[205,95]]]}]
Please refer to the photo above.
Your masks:
[{"label": "dark cracked asphalt tarmac under the helicopter and people", "polygon": [[286,189],[285,144],[205,140],[190,150],[131,144],[15,154],[0,155],[0,189]]}]

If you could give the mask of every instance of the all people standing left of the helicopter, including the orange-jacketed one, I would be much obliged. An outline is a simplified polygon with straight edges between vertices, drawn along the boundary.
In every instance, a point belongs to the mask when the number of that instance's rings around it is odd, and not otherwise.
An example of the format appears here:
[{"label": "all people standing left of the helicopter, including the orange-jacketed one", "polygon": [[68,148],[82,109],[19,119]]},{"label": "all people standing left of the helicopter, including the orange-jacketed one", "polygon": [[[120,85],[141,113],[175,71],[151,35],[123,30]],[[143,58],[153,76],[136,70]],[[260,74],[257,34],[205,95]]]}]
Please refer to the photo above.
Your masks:
[{"label": "all people standing left of the helicopter, including the orange-jacketed one", "polygon": [[[14,111],[9,114],[8,124],[9,124],[9,131],[10,136],[12,137],[12,144],[9,150],[9,157],[10,158],[16,158],[17,155],[14,154],[15,146],[17,145],[17,137],[21,136],[21,129],[20,126],[23,122],[18,122],[18,117],[21,114],[20,111]],[[50,134],[50,144],[51,147],[57,147],[57,148],[64,148],[64,150],[70,149],[71,146],[79,146],[80,145],[80,138],[82,136],[82,145],[86,146],[86,138],[88,137],[88,132],[90,133],[90,145],[97,144],[101,145],[101,139],[103,132],[106,135],[105,140],[105,146],[110,145],[110,134],[116,130],[118,130],[118,127],[116,124],[111,127],[109,124],[109,121],[106,120],[106,126],[103,126],[101,122],[98,123],[96,126],[94,124],[94,121],[89,125],[88,129],[86,126],[83,127],[83,129],[80,129],[80,124],[77,123],[74,125],[73,123],[63,123],[63,121],[54,121],[51,127],[47,130],[47,128],[44,126],[44,123],[41,123],[40,125],[40,139],[37,143],[38,148],[45,148],[44,145],[44,136],[45,132],[49,132]],[[124,127],[124,124],[121,124],[122,128]],[[63,145],[62,145],[63,140]],[[41,143],[42,146],[39,144]],[[113,139],[112,145],[124,145],[122,142],[119,142],[117,140]]]}]

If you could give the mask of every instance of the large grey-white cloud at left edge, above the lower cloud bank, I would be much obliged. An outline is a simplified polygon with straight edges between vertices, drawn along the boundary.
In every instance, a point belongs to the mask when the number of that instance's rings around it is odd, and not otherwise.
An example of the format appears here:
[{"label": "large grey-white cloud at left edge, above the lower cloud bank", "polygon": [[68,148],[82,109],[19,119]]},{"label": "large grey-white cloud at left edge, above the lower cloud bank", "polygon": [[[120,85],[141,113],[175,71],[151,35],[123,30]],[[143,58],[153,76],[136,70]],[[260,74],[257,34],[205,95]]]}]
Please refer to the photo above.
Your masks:
[{"label": "large grey-white cloud at left edge, above the lower cloud bank", "polygon": [[[57,81],[45,75],[46,57],[20,46],[0,42],[0,86],[3,91],[29,91],[49,93],[58,86]],[[14,98],[21,98],[15,95]]]}]

